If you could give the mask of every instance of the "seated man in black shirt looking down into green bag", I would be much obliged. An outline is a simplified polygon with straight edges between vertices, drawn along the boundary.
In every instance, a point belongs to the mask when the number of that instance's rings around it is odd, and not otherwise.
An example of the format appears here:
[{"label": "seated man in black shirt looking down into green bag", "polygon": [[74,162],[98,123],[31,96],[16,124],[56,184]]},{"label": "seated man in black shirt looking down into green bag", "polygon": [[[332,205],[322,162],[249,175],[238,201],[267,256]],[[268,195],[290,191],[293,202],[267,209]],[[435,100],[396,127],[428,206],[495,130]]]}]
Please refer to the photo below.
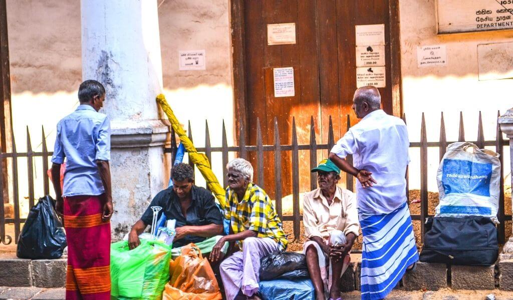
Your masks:
[{"label": "seated man in black shirt looking down into green bag", "polygon": [[[152,206],[162,207],[167,220],[176,220],[176,235],[173,240],[172,258],[181,254],[180,247],[194,243],[204,256],[212,251],[212,247],[223,233],[223,216],[215,205],[212,193],[203,187],[195,186],[194,171],[185,163],[179,163],[171,169],[173,186],[168,187],[153,198],[128,235],[128,246],[134,249],[140,245],[139,235],[153,219]],[[223,250],[226,253],[228,243]]]}]

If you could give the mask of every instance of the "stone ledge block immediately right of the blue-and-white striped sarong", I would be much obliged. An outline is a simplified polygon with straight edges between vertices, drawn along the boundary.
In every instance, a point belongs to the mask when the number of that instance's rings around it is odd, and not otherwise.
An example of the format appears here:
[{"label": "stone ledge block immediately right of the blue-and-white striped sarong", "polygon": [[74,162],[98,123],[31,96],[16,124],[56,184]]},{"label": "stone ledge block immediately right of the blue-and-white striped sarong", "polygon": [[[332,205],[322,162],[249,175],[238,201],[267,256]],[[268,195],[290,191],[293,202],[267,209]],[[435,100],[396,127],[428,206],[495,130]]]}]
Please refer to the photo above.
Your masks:
[{"label": "stone ledge block immediately right of the blue-and-white striped sarong", "polygon": [[406,272],[402,289],[407,291],[436,291],[447,287],[447,266],[445,264],[417,263],[417,270]]}]

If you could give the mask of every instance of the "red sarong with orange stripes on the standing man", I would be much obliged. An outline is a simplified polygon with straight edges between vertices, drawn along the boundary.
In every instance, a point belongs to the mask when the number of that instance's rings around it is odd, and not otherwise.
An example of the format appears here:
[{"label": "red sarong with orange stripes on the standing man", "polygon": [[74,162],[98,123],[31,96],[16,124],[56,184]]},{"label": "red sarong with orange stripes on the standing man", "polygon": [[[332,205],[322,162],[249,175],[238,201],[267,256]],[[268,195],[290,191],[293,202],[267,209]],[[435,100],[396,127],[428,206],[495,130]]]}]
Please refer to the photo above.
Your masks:
[{"label": "red sarong with orange stripes on the standing man", "polygon": [[66,299],[110,299],[110,222],[102,221],[105,197],[64,199],[68,241]]}]

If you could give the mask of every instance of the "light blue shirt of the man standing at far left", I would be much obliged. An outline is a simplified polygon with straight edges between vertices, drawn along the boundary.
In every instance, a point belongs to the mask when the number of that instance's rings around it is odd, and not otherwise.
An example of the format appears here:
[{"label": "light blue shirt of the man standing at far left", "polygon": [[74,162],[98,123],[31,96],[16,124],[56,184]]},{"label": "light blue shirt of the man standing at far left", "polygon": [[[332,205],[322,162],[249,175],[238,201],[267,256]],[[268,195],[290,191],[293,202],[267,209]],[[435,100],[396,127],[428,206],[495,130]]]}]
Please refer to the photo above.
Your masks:
[{"label": "light blue shirt of the man standing at far left", "polygon": [[62,164],[64,158],[63,197],[103,194],[96,160],[110,160],[109,118],[83,104],[59,121],[52,162]]}]

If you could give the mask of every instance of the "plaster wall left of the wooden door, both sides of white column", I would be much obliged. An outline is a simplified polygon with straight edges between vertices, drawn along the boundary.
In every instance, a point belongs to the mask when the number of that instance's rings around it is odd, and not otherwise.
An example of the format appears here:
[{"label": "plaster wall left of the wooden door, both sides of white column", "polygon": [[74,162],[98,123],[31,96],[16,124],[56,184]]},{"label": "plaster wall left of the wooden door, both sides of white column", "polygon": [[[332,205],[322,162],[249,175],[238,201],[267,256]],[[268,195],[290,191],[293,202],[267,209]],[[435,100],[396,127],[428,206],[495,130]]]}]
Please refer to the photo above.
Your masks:
[{"label": "plaster wall left of the wooden door, both sides of white column", "polygon": [[[157,0],[144,0],[157,1]],[[164,94],[179,120],[191,120],[194,142],[204,144],[205,119],[212,146],[221,144],[225,120],[233,142],[233,95],[228,0],[158,0]],[[78,104],[82,82],[80,1],[7,0],[14,134],[18,151],[26,149],[26,126],[34,151],[41,151],[41,126],[53,149],[55,126]],[[205,71],[178,71],[178,51],[206,51]],[[156,96],[156,95],[155,95]],[[221,156],[212,156],[221,180]],[[26,160],[19,161],[22,216],[28,212]],[[34,180],[41,182],[36,161]],[[204,185],[199,173],[197,183]],[[167,186],[166,182],[162,186]],[[35,196],[43,194],[36,186]]]}]

